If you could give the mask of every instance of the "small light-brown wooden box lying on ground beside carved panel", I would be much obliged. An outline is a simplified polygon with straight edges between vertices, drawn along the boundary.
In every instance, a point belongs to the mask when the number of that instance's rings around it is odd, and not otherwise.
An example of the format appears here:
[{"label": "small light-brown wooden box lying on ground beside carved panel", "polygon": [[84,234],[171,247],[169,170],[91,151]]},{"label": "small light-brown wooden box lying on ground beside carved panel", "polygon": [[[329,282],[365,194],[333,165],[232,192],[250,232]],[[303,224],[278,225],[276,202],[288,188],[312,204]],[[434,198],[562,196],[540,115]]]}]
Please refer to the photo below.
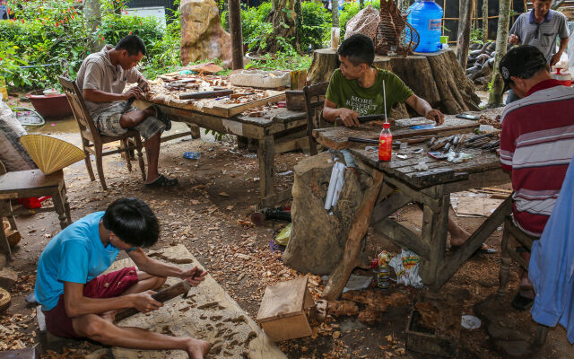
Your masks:
[{"label": "small light-brown wooden box lying on ground beside carved panel", "polygon": [[256,321],[275,342],[311,335],[306,310],[314,302],[307,281],[304,277],[265,288]]}]

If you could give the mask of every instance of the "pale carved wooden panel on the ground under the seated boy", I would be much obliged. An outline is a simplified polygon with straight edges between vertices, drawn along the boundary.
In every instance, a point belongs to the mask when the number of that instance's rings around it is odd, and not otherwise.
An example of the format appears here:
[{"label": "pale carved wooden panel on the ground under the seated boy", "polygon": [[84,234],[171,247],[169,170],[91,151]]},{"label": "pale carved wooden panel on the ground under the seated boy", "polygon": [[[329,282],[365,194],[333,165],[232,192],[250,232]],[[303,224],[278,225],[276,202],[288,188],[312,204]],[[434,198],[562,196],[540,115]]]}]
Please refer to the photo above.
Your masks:
[{"label": "pale carved wooden panel on the ground under the seated boy", "polygon": [[[171,264],[177,263],[180,267],[197,266],[204,269],[183,245],[154,250],[148,255]],[[109,271],[128,266],[134,266],[134,263],[126,258],[115,262]],[[168,278],[166,284],[172,285],[178,281],[178,278]],[[158,311],[153,311],[149,315],[136,314],[119,322],[118,325],[207,340],[213,343],[209,358],[286,358],[248,313],[243,311],[209,274],[201,285],[191,289],[186,300],[175,298],[166,302]],[[117,359],[187,359],[187,354],[178,350],[155,351],[113,347],[112,354]]]}]

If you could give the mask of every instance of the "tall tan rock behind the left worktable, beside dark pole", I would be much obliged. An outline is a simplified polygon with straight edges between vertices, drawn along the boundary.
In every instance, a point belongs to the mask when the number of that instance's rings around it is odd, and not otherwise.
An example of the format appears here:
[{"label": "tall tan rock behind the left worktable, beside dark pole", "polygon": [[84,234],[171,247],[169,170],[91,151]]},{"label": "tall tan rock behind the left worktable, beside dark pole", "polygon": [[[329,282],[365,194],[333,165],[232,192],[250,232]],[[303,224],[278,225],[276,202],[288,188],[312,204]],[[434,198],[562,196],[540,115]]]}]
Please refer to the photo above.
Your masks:
[{"label": "tall tan rock behind the left worktable, beside dark pole", "polygon": [[213,0],[182,0],[181,63],[231,59],[231,36],[222,28],[217,4]]}]

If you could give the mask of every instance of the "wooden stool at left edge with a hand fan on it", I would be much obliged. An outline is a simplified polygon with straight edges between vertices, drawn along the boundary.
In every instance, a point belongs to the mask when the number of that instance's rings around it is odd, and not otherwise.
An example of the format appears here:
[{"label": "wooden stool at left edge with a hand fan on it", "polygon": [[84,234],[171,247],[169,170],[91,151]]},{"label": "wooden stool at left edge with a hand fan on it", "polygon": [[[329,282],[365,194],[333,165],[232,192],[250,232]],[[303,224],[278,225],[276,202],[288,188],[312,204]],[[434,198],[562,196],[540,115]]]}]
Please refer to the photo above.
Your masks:
[{"label": "wooden stool at left edge with a hand fan on it", "polygon": [[[36,209],[23,208],[13,211],[10,205],[11,199],[42,196],[51,196],[54,206]],[[45,175],[39,170],[7,172],[0,175],[0,220],[7,217],[13,230],[16,229],[14,215],[31,215],[48,211],[57,212],[62,229],[72,223],[70,205],[65,195],[63,171],[60,170],[49,175]],[[0,246],[4,249],[6,258],[11,259],[12,251],[4,231],[0,231]]]}]

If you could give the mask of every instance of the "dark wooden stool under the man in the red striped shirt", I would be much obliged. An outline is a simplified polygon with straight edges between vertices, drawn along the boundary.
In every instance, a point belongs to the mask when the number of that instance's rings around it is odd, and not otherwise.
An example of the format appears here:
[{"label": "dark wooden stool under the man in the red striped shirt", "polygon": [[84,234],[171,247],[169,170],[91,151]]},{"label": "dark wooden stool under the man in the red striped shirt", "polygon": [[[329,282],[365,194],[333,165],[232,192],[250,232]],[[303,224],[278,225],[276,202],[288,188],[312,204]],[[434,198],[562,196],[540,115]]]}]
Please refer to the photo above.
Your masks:
[{"label": "dark wooden stool under the man in the red striped shirt", "polygon": [[[524,258],[520,257],[514,248],[510,248],[510,238],[514,238],[518,244],[526,248],[528,252],[532,250],[532,243],[540,239],[522,232],[522,230],[512,222],[512,216],[506,216],[504,220],[504,232],[502,232],[502,252],[500,253],[499,296],[506,293],[506,285],[509,283],[510,260],[516,260],[520,267],[528,271],[528,262],[526,262]],[[547,334],[548,327],[538,324],[538,327],[536,328],[535,345],[542,346],[544,341],[546,341]]]}]

